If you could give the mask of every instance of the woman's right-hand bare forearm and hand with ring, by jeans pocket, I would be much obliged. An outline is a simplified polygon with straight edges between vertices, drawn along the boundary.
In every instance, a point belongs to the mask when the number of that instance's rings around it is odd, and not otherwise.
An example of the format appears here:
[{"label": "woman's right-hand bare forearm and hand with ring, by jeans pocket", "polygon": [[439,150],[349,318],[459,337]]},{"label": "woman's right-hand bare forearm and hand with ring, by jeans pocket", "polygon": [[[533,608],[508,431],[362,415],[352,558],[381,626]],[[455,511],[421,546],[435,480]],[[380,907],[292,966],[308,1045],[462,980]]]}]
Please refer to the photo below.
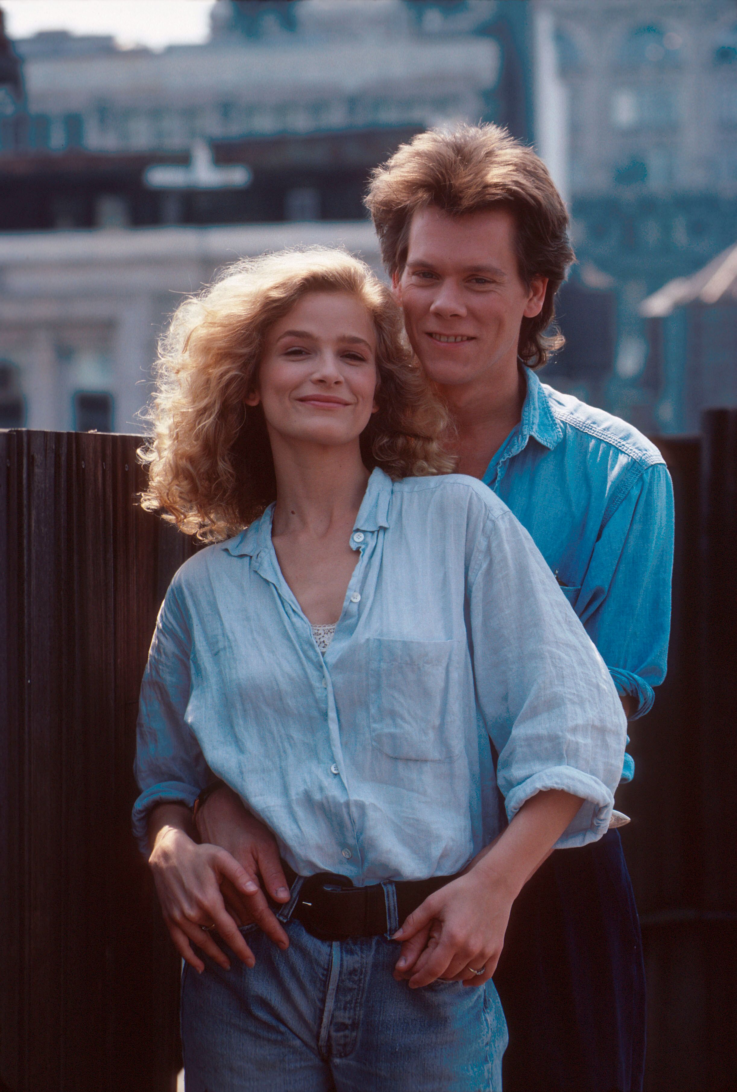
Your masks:
[{"label": "woman's right-hand bare forearm and hand with ring, by jeans pocket", "polygon": [[394,977],[408,980],[413,989],[436,978],[464,986],[487,982],[501,956],[512,903],[581,804],[561,790],[531,797],[464,875],[429,895],[394,934],[402,941]]}]

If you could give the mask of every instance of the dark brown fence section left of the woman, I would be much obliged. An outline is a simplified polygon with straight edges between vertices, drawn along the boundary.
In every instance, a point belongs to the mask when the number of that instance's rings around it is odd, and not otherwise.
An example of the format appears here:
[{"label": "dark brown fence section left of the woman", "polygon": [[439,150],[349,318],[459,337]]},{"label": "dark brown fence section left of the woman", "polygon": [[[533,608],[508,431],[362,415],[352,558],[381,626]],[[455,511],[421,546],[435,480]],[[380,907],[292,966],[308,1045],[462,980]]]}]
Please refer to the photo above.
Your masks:
[{"label": "dark brown fence section left of the woman", "polygon": [[175,1087],[178,960],[130,808],[142,668],[190,543],[135,507],[135,448],[0,432],[3,1092]]}]

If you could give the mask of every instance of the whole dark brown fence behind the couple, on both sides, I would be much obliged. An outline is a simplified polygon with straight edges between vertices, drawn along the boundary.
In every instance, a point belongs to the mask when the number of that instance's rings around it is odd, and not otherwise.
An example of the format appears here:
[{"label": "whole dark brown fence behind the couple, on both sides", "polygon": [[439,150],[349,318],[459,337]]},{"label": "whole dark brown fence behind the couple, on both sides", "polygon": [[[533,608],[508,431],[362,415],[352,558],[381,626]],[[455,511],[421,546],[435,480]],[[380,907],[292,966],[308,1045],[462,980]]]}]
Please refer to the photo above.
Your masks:
[{"label": "whole dark brown fence behind the couple, on both sides", "polygon": [[[139,682],[192,547],[135,507],[135,446],[0,432],[0,1092],[168,1092],[179,1065],[178,961],[129,817]],[[637,778],[618,794],[647,964],[646,1088],[728,1092],[737,411],[661,447],[677,507],[669,674],[632,726]]]}]

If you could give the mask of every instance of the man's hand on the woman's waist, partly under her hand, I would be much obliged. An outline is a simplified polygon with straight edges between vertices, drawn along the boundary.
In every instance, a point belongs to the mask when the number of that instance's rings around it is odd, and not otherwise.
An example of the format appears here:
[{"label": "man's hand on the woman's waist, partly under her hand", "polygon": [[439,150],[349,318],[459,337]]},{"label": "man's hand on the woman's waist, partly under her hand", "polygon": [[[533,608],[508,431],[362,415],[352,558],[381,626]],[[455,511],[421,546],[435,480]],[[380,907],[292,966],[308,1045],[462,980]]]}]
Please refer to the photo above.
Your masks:
[{"label": "man's hand on the woman's waist, partly under her hand", "polygon": [[287,935],[259,882],[261,878],[275,902],[289,901],[289,888],[272,832],[246,810],[240,797],[227,785],[211,793],[198,810],[195,826],[201,842],[225,850],[246,875],[239,888],[228,877],[223,879],[221,889],[229,912],[241,925],[253,922],[280,948],[287,948]]}]

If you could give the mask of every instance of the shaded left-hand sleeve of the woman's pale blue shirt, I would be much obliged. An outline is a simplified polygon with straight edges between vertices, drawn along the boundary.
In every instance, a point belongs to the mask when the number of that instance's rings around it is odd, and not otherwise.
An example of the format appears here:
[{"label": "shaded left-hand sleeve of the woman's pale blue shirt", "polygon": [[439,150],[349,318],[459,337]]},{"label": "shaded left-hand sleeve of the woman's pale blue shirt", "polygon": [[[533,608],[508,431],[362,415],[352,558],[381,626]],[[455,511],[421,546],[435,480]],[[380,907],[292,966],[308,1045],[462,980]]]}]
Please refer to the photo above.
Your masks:
[{"label": "shaded left-hand sleeve of the woman's pale blue shirt", "polygon": [[133,806],[133,833],[148,854],[147,826],[157,804],[194,803],[210,779],[200,745],[185,714],[191,689],[191,634],[175,583],[156,620],[141,684],[134,773],[141,795]]}]

